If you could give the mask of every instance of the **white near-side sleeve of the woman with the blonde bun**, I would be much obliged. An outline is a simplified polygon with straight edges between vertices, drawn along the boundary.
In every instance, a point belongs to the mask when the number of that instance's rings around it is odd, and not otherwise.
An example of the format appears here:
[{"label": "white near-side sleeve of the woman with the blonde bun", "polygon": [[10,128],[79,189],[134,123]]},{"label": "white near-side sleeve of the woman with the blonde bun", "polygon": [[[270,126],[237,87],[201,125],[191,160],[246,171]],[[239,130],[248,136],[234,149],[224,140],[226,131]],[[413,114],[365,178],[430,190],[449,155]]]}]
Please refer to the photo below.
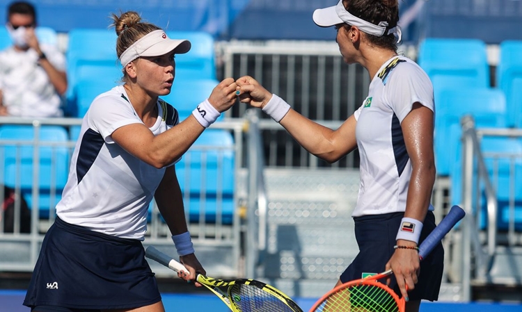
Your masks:
[{"label": "white near-side sleeve of the woman with the blonde bun", "polygon": [[122,97],[102,94],[96,97],[85,116],[90,129],[102,135],[106,143],[113,143],[111,134],[127,124],[143,124],[134,115],[132,105]]}]

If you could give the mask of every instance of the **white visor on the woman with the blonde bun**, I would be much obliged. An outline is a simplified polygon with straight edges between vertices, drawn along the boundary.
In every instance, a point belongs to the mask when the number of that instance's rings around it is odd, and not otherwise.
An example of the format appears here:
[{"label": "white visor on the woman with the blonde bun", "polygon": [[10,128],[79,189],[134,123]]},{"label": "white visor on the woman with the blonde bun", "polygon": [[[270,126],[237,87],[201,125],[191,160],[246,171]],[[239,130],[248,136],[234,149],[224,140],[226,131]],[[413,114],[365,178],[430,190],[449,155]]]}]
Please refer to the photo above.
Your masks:
[{"label": "white visor on the woman with the blonde bun", "polygon": [[120,56],[120,63],[125,65],[131,63],[140,56],[162,56],[169,52],[176,54],[187,53],[191,48],[189,40],[174,40],[168,38],[166,33],[161,29],[152,31],[144,35],[138,41],[128,47]]}]

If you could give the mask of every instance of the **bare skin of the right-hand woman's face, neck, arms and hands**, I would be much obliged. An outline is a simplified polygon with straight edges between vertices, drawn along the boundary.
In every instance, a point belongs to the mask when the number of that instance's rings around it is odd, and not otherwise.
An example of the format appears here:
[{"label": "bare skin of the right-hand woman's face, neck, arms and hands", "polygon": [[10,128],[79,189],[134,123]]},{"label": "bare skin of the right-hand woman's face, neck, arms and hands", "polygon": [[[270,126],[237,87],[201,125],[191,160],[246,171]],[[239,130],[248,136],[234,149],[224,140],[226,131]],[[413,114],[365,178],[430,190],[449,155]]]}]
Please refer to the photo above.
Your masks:
[{"label": "bare skin of the right-hand woman's face, neck, arms and hands", "polygon": [[[370,77],[377,74],[383,63],[397,55],[391,49],[370,44],[365,33],[356,26],[338,25],[336,28],[338,33],[335,41],[345,63],[361,64]],[[271,92],[251,76],[237,79],[237,85],[240,101],[253,107],[263,108],[272,97]],[[303,117],[292,108],[280,120],[280,124],[301,146],[329,163],[338,161],[356,149],[356,123],[354,115],[351,115],[338,129],[333,130]],[[432,110],[418,102],[414,103],[401,127],[412,166],[404,217],[423,221],[427,214],[425,207],[429,206],[435,181]],[[397,240],[397,245],[417,244],[408,240]],[[420,261],[417,252],[411,249],[396,249],[386,264],[386,270],[388,269],[393,270],[402,296],[408,298],[406,286],[407,289],[413,290],[418,281]],[[341,281],[338,281],[336,286],[340,284]],[[409,301],[406,303],[406,311],[418,311],[419,306],[420,300]]]}]

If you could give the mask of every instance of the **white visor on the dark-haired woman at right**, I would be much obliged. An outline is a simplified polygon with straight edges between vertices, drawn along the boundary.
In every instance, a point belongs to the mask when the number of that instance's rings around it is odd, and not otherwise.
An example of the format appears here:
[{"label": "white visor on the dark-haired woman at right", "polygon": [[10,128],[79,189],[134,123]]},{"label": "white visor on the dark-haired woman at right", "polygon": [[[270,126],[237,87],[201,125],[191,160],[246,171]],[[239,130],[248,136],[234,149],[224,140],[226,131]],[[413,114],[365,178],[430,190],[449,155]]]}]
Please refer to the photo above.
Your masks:
[{"label": "white visor on the dark-haired woman at right", "polygon": [[[349,24],[356,26],[367,34],[376,35],[377,37],[384,35],[384,33],[386,33],[386,28],[388,27],[388,22],[379,22],[379,25],[375,25],[365,21],[364,19],[351,15],[351,13],[345,9],[345,6],[342,5],[342,0],[337,3],[337,6],[315,10],[313,20],[315,24],[322,27],[330,27],[343,23]],[[400,42],[402,33],[398,26],[388,29],[386,34],[389,35],[390,33],[396,33],[395,37],[397,38],[397,42]]]}]

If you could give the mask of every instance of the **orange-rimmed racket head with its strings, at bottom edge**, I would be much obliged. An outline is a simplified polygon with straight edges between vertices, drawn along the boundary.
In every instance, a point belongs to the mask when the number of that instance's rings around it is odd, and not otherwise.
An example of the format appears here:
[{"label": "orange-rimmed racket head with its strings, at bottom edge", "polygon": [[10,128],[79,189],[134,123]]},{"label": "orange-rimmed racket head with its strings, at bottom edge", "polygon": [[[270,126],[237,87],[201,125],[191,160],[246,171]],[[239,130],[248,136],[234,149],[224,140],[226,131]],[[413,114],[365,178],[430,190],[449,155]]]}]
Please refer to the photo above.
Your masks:
[{"label": "orange-rimmed racket head with its strings, at bottom edge", "polygon": [[333,288],[314,304],[310,312],[404,312],[405,306],[404,298],[393,289],[376,279],[367,278]]}]

